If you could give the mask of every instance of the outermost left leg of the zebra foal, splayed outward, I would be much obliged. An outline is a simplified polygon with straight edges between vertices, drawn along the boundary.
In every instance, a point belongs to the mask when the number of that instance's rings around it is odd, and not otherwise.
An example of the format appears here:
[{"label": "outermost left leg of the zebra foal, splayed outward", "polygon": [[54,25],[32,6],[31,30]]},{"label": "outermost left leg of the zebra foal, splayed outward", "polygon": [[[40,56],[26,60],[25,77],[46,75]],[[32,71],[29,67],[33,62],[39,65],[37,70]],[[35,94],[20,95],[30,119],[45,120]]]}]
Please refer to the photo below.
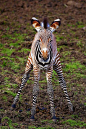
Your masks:
[{"label": "outermost left leg of the zebra foal, splayed outward", "polygon": [[24,87],[25,83],[27,82],[27,80],[29,79],[29,73],[30,71],[32,70],[32,60],[31,60],[31,56],[29,55],[28,57],[28,61],[27,61],[27,64],[26,64],[26,69],[25,69],[25,74],[23,75],[22,77],[22,83],[21,83],[21,86],[19,88],[19,91],[16,95],[16,97],[14,98],[14,101],[13,101],[13,104],[12,104],[12,107],[11,107],[11,110],[13,110],[13,108],[16,107],[16,102],[18,101],[19,99],[19,95],[22,91],[22,88]]}]

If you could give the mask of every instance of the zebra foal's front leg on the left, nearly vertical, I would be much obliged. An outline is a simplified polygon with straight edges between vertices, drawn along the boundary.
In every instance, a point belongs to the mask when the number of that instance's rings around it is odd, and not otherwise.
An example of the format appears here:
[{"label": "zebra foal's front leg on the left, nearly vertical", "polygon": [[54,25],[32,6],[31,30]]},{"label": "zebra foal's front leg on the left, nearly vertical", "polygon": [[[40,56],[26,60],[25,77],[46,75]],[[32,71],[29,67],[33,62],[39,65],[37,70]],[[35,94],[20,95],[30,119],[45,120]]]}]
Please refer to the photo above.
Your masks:
[{"label": "zebra foal's front leg on the left, nearly vertical", "polygon": [[36,113],[36,99],[39,91],[39,78],[40,78],[40,70],[35,65],[33,65],[33,72],[34,72],[33,105],[31,109],[30,120],[34,120],[34,115]]}]

